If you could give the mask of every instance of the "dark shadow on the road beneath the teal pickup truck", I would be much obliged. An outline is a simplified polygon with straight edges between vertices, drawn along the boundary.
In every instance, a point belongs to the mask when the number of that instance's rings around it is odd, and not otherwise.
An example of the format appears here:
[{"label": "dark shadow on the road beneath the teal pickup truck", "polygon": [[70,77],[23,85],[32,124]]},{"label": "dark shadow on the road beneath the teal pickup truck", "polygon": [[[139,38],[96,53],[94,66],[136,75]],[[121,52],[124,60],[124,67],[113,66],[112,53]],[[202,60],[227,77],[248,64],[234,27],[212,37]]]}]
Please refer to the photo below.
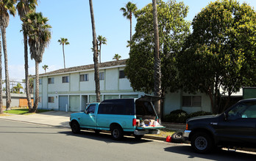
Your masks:
[{"label": "dark shadow on the road beneath the teal pickup truck", "polygon": [[121,141],[114,141],[110,135],[110,133],[107,132],[100,132],[96,133],[92,130],[83,130],[79,134],[74,134],[71,131],[62,131],[59,132],[61,134],[65,134],[68,136],[74,136],[74,137],[79,137],[79,138],[84,138],[84,139],[92,139],[96,141],[104,141],[105,143],[129,143],[129,144],[137,144],[137,143],[147,143],[151,142],[150,140],[146,139],[141,139],[137,140],[133,136],[127,136],[124,135],[124,138]]}]

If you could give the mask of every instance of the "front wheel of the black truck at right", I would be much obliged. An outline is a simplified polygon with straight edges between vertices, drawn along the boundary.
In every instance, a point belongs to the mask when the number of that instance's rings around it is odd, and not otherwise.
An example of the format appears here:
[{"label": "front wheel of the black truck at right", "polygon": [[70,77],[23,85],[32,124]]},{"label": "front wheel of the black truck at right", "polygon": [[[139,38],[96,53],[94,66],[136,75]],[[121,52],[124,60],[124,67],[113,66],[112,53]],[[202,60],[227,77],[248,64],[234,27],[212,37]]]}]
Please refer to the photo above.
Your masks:
[{"label": "front wheel of the black truck at right", "polygon": [[205,154],[213,148],[213,140],[205,132],[196,132],[191,138],[191,146],[196,152]]}]

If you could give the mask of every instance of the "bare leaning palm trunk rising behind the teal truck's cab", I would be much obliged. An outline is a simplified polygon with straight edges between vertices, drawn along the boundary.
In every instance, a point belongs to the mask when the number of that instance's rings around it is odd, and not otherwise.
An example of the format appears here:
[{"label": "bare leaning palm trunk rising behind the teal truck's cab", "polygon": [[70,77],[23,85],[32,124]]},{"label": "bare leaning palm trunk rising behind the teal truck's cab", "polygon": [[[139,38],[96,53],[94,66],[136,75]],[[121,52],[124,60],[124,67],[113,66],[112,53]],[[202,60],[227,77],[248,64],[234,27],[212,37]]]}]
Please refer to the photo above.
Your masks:
[{"label": "bare leaning palm trunk rising behind the teal truck's cab", "polygon": [[96,102],[100,102],[100,87],[99,87],[99,61],[98,61],[98,45],[96,39],[96,29],[95,29],[95,21],[94,21],[94,14],[93,14],[93,1],[89,0],[90,4],[90,18],[91,18],[91,26],[93,30],[93,61],[94,61],[94,80],[95,80],[95,87],[96,87]]}]

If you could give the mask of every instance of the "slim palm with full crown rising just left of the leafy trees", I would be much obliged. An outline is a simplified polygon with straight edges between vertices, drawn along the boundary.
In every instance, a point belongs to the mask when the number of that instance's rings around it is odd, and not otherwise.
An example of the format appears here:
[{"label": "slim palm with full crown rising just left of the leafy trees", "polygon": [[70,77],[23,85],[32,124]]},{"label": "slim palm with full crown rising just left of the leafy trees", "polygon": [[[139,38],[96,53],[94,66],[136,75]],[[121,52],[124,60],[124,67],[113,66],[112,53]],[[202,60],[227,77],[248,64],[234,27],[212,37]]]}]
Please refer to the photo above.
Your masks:
[{"label": "slim palm with full crown rising just left of the leafy trees", "polygon": [[132,2],[128,2],[125,7],[121,7],[120,9],[125,18],[129,20],[129,42],[132,42],[132,14],[134,15],[137,7],[136,4],[132,4]]}]

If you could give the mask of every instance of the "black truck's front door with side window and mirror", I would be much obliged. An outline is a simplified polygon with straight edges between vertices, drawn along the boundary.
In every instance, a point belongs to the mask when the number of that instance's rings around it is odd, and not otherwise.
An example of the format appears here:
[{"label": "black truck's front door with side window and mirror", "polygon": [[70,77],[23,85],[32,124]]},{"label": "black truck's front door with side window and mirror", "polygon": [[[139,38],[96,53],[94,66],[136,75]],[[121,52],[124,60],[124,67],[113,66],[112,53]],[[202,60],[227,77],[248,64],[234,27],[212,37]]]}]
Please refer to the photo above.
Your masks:
[{"label": "black truck's front door with side window and mirror", "polygon": [[218,124],[224,141],[256,143],[256,102],[243,102],[227,111],[227,120]]}]

